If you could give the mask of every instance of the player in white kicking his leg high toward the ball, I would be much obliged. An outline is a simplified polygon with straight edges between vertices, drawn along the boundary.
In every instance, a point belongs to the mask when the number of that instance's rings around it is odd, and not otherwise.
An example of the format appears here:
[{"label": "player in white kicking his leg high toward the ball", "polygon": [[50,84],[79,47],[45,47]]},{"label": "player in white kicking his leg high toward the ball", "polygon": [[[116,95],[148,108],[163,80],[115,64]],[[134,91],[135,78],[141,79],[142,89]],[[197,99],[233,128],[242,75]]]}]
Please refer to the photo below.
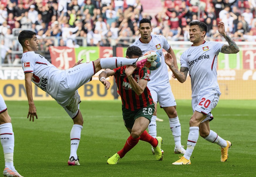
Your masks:
[{"label": "player in white kicking his leg high toward the ball", "polygon": [[89,63],[80,63],[82,60],[79,60],[72,68],[62,71],[53,66],[45,57],[35,53],[38,50],[38,40],[35,32],[30,30],[21,31],[18,41],[23,48],[21,63],[25,73],[25,87],[29,105],[27,118],[30,117],[30,121],[31,118],[34,121],[34,116],[37,118],[32,96],[31,82],[33,82],[52,96],[73,119],[74,125],[70,132],[71,145],[68,165],[79,165],[77,148],[84,121],[79,110],[81,100],[77,89],[89,82],[91,77],[103,68],[113,69],[125,65],[135,65],[137,68],[142,68],[147,61],[152,62],[157,58],[156,53],[153,53],[136,59],[110,57],[97,59]]}]

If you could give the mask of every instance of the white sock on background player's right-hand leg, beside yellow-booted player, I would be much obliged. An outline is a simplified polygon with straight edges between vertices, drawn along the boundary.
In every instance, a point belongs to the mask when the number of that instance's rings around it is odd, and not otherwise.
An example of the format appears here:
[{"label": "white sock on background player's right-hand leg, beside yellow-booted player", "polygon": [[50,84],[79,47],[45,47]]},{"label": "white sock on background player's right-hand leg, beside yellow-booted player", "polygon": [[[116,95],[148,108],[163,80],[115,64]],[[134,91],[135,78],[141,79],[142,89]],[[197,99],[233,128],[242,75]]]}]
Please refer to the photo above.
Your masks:
[{"label": "white sock on background player's right-hand leg, beside yellow-booted player", "polygon": [[181,127],[178,116],[175,118],[169,118],[170,128],[174,138],[175,147],[181,147]]}]

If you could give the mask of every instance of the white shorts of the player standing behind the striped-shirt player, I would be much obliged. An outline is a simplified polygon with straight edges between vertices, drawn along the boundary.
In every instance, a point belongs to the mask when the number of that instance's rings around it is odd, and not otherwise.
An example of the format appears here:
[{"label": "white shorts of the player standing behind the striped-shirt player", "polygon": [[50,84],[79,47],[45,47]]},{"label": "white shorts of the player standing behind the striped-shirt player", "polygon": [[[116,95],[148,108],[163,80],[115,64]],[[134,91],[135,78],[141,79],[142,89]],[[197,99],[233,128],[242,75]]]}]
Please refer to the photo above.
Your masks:
[{"label": "white shorts of the player standing behind the striped-shirt player", "polygon": [[159,102],[161,107],[176,106],[171,85],[155,85],[148,87],[154,102]]}]

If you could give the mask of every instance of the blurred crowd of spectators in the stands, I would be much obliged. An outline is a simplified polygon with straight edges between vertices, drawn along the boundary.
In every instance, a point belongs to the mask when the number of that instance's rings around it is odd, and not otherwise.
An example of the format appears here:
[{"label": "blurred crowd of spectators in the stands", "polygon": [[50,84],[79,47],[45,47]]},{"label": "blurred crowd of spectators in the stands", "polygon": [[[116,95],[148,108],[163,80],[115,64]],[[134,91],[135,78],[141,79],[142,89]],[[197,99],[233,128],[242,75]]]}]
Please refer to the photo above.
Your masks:
[{"label": "blurred crowd of spectators in the stands", "polygon": [[127,47],[140,37],[142,18],[155,18],[153,33],[171,41],[189,41],[188,24],[196,20],[207,24],[208,40],[224,40],[218,21],[225,23],[235,41],[256,39],[256,0],[165,0],[162,6],[162,11],[150,16],[143,13],[140,0],[1,0],[1,53],[21,49],[12,40],[20,29],[34,30],[42,51],[54,45],[47,37],[61,37],[59,46],[82,46],[80,37],[87,40],[87,46],[109,46],[116,39],[118,45]]}]

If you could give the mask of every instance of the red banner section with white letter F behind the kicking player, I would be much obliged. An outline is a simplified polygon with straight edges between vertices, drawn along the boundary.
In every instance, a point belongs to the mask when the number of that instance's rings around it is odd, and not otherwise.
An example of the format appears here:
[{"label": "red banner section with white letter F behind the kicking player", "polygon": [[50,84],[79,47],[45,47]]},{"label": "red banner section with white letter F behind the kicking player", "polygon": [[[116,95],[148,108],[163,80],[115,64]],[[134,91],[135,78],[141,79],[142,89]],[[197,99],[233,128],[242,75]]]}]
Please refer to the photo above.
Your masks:
[{"label": "red banner section with white letter F behind the kicking player", "polygon": [[74,48],[51,46],[50,55],[52,64],[61,70],[71,68],[76,63]]}]

